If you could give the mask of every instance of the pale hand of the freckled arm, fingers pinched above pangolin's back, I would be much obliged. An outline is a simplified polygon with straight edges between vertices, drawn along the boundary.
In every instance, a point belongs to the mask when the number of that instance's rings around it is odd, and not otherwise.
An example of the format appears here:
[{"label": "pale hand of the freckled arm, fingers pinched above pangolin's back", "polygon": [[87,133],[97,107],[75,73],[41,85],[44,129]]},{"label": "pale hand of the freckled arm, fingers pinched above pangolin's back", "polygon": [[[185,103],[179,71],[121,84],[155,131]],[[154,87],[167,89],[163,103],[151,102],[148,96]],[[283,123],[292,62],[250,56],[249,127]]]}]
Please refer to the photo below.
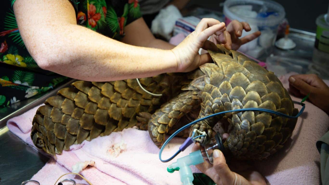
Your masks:
[{"label": "pale hand of the freckled arm, fingers pinched above pangolin's back", "polygon": [[200,48],[215,51],[218,49],[213,42],[207,40],[214,34],[218,36],[222,43],[226,43],[226,38],[223,35],[225,29],[225,23],[212,18],[203,18],[196,26],[195,31],[171,50],[177,61],[176,72],[189,72],[206,62],[212,61],[208,53],[199,55],[198,51]]}]

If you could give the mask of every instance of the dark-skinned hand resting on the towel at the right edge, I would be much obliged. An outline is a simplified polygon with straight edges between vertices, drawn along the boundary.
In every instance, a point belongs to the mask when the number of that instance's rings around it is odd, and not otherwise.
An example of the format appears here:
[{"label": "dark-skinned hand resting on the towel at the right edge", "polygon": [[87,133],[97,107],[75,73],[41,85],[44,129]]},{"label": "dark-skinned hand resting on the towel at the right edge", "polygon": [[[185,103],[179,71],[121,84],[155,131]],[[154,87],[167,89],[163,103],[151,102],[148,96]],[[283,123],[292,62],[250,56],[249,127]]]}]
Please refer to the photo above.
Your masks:
[{"label": "dark-skinned hand resting on the towel at the right edge", "polygon": [[310,102],[329,114],[329,87],[317,75],[290,76],[289,91],[297,97],[304,97],[311,93],[308,97]]}]

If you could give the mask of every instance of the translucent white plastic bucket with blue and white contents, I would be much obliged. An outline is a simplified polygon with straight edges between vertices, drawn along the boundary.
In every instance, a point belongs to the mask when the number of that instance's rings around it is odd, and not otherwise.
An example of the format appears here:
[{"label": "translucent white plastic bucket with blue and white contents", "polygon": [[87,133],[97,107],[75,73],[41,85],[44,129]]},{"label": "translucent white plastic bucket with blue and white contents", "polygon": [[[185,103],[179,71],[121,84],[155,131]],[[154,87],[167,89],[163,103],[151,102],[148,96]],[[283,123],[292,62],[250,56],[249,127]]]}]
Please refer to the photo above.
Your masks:
[{"label": "translucent white plastic bucket with blue and white contents", "polygon": [[232,20],[247,22],[250,32],[242,32],[242,36],[261,31],[262,35],[240,47],[239,51],[255,58],[266,54],[269,55],[274,45],[278,26],[286,13],[284,8],[271,0],[226,0],[223,13],[225,24]]}]

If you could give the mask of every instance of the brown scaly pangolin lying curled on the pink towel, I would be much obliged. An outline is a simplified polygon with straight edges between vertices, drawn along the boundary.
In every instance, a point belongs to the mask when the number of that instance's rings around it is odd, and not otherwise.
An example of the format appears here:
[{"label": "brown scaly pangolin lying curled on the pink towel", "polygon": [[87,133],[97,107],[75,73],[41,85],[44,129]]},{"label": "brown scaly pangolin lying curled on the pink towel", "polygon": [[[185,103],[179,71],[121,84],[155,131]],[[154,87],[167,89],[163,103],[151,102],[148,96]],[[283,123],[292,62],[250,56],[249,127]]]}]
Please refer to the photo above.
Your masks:
[{"label": "brown scaly pangolin lying curled on the pink towel", "polygon": [[[214,63],[189,73],[160,74],[111,82],[76,81],[49,97],[33,119],[31,138],[45,152],[55,155],[81,144],[137,125],[148,129],[152,141],[161,146],[165,135],[193,119],[241,108],[265,108],[295,116],[288,91],[273,72],[245,55],[217,45],[208,51]],[[226,113],[201,121],[194,128],[213,135],[221,122],[229,134],[225,148],[238,159],[265,159],[283,147],[297,119],[245,111]],[[225,123],[225,124],[224,124]]]}]

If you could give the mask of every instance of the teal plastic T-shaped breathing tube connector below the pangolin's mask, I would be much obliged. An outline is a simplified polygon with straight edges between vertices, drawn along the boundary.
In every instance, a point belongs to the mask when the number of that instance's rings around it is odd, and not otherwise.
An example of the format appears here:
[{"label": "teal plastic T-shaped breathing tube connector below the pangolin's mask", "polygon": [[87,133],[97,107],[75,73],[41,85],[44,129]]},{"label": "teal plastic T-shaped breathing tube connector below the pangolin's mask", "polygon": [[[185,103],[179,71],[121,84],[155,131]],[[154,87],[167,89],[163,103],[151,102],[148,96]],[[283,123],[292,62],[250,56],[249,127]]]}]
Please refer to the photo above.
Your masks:
[{"label": "teal plastic T-shaped breathing tube connector below the pangolin's mask", "polygon": [[191,165],[198,165],[200,163],[203,163],[204,159],[201,155],[201,151],[197,150],[195,152],[190,153],[189,155],[177,159],[177,162],[172,163],[167,168],[167,171],[173,172],[176,169],[179,169],[179,175],[181,177],[181,182],[183,185],[193,185],[193,174],[192,170],[190,168]]}]

